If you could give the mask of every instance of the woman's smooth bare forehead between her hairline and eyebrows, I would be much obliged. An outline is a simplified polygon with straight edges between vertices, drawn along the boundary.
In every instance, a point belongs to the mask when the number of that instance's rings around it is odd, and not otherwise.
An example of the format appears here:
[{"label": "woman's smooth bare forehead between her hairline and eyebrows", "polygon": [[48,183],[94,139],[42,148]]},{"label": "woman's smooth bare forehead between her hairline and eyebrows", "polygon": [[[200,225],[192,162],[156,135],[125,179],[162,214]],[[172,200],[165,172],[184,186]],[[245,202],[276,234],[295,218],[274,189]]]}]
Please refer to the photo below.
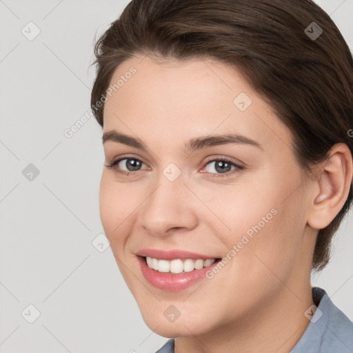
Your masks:
[{"label": "woman's smooth bare forehead between her hairline and eyebrows", "polygon": [[270,105],[240,72],[223,63],[134,57],[115,70],[110,87],[114,84],[105,102],[104,131],[149,132],[150,137],[169,141],[176,136],[186,140],[195,134],[232,132],[263,145],[283,144],[283,140],[290,144],[290,131]]}]

